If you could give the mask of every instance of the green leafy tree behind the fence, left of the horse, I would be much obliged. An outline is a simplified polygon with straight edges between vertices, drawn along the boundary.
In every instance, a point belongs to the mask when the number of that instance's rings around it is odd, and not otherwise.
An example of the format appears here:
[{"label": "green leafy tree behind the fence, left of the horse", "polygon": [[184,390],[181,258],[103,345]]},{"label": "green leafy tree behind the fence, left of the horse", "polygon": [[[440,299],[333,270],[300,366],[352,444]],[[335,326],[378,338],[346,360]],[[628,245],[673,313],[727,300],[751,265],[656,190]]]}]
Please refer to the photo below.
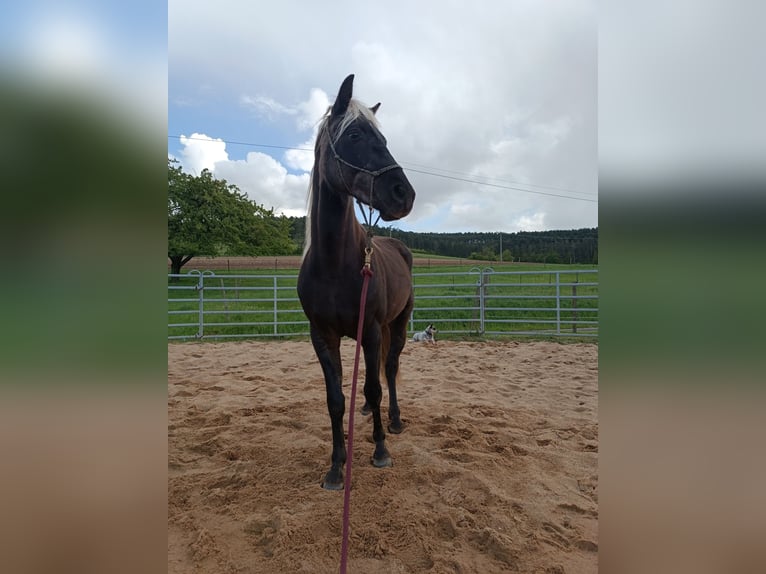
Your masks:
[{"label": "green leafy tree behind the fence, left of the horse", "polygon": [[171,273],[180,273],[198,255],[276,255],[294,249],[287,218],[276,217],[208,170],[195,177],[168,160]]}]

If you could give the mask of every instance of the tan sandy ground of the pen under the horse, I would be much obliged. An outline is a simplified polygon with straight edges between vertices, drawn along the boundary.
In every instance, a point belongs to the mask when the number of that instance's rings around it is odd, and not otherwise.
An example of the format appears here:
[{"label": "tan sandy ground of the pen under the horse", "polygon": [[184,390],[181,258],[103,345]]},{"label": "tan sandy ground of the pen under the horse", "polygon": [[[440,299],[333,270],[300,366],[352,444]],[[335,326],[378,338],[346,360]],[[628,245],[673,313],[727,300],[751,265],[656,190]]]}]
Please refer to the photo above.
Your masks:
[{"label": "tan sandy ground of the pen under the horse", "polygon": [[[597,369],[591,344],[408,343],[393,467],[356,415],[348,571],[597,572]],[[338,572],[309,343],[169,345],[168,411],[169,572]]]}]

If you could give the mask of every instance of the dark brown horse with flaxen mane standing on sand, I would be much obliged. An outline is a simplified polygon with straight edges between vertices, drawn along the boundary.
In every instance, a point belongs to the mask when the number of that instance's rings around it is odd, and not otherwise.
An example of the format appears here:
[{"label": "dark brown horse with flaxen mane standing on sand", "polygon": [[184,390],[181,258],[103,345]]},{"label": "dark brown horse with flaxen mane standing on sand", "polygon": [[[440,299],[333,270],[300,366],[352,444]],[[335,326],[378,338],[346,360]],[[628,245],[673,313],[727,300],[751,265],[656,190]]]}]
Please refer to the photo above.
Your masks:
[{"label": "dark brown horse with flaxen mane standing on sand", "polygon": [[362,413],[372,413],[375,450],[371,462],[379,468],[393,464],[380,413],[381,367],[388,384],[388,431],[398,434],[404,425],[396,379],[414,305],[412,253],[397,239],[372,237],[356,218],[354,200],[369,206],[370,212],[376,209],[384,221],[401,219],[412,210],[415,190],[388,151],[375,118],[380,103],[368,108],[353,99],[353,82],[353,74],[343,81],[317,131],[306,243],[298,274],[298,297],[309,320],[311,343],[327,390],[332,456],[321,485],[328,490],[344,488],[346,405],[340,342],[343,337],[357,336],[366,250],[371,249],[372,276],[361,337],[365,362]]}]

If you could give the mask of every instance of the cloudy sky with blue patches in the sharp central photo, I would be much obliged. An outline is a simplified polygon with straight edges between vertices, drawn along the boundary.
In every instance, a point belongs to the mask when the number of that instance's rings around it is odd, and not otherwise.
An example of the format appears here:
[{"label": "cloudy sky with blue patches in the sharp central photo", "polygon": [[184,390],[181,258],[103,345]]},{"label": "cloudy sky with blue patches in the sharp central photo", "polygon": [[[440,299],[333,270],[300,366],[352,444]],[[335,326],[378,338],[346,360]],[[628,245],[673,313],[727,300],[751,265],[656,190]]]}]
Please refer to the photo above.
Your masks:
[{"label": "cloudy sky with blue patches in the sharp central photo", "polygon": [[410,231],[598,225],[595,2],[168,3],[168,154],[305,215],[343,79],[381,102]]}]

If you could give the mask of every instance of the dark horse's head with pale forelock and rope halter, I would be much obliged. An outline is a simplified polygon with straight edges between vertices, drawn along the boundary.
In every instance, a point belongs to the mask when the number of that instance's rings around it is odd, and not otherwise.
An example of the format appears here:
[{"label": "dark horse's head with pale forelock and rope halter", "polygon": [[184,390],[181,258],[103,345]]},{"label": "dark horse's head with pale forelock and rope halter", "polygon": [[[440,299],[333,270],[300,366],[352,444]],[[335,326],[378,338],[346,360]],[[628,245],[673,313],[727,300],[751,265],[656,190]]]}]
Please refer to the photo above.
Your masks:
[{"label": "dark horse's head with pale forelock and rope halter", "polygon": [[412,210],[415,190],[378,129],[380,104],[368,108],[353,100],[353,84],[352,74],[341,84],[317,139],[317,147],[327,146],[321,156],[325,177],[336,190],[377,209],[384,221],[400,219]]}]

